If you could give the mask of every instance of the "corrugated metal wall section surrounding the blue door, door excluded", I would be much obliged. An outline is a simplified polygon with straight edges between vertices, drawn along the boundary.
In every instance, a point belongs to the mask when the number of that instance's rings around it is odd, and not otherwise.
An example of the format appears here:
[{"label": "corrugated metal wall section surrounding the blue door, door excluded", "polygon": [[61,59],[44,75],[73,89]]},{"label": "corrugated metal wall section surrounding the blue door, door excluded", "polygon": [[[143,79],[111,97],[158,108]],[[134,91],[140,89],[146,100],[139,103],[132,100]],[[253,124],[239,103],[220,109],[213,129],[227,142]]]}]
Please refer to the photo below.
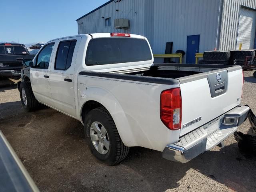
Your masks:
[{"label": "corrugated metal wall section surrounding the blue door, door excluded", "polygon": [[[214,50],[218,32],[220,0],[155,0],[154,49],[163,54],[166,42],[173,52],[186,52],[187,36],[200,35],[199,52]],[[186,62],[186,55],[183,61]],[[156,62],[162,62],[157,59]]]}]

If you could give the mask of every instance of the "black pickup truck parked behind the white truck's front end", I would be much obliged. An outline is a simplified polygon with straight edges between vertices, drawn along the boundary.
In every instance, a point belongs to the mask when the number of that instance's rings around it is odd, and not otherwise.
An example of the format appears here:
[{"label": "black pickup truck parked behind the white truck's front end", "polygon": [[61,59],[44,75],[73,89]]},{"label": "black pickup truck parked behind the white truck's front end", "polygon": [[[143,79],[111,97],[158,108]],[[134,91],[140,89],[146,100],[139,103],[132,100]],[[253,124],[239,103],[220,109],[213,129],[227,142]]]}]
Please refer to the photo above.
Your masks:
[{"label": "black pickup truck parked behind the white truck's front end", "polygon": [[33,59],[24,44],[0,43],[0,78],[19,79],[23,59]]}]

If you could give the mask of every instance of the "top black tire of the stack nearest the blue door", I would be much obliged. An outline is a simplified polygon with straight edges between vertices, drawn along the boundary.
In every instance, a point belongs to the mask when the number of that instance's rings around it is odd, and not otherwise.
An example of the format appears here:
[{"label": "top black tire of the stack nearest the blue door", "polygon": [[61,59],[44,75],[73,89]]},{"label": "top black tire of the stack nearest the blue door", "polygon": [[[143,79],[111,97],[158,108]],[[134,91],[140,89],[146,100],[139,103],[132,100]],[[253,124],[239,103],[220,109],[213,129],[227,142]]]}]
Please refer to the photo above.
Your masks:
[{"label": "top black tire of the stack nearest the blue door", "polygon": [[205,51],[204,60],[206,61],[227,61],[230,58],[229,51]]}]

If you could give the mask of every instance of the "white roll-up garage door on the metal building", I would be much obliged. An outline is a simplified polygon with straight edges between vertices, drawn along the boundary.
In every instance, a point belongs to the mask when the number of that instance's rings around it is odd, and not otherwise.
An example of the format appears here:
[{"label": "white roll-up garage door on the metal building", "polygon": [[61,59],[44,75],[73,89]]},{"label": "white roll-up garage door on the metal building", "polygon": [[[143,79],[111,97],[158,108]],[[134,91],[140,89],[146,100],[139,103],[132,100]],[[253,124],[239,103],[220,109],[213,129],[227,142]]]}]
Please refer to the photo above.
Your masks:
[{"label": "white roll-up garage door on the metal building", "polygon": [[236,49],[242,43],[242,49],[253,49],[256,31],[256,11],[240,9]]}]

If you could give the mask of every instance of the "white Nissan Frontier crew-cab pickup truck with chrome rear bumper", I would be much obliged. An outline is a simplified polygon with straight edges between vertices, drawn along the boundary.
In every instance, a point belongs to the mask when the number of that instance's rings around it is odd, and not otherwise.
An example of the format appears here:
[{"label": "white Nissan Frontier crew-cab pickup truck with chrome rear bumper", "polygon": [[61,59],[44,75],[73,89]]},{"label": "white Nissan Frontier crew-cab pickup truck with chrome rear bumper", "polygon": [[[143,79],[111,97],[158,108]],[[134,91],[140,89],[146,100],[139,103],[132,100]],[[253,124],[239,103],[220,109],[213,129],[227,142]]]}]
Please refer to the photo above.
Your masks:
[{"label": "white Nissan Frontier crew-cab pickup truck with chrome rear bumper", "polygon": [[23,63],[30,66],[18,85],[24,108],[42,103],[80,120],[92,154],[108,165],[133,146],[188,162],[223,144],[249,111],[240,106],[240,66],[153,64],[139,35],[58,38]]}]

